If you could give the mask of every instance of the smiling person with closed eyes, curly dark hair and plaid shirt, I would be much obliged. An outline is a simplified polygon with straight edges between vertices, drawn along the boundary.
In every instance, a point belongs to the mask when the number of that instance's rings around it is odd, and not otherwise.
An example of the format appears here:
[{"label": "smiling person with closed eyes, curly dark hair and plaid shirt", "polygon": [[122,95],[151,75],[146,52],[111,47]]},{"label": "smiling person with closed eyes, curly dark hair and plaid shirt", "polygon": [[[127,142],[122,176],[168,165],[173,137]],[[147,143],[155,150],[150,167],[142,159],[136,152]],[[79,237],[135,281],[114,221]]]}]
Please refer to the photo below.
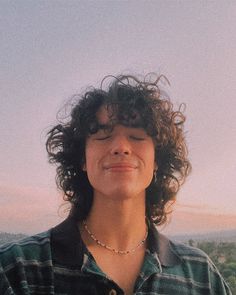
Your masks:
[{"label": "smiling person with closed eyes, curly dark hair and plaid shirt", "polygon": [[1,294],[231,294],[205,253],[157,230],[191,165],[185,116],[151,77],[106,77],[49,131],[70,213],[1,248]]}]

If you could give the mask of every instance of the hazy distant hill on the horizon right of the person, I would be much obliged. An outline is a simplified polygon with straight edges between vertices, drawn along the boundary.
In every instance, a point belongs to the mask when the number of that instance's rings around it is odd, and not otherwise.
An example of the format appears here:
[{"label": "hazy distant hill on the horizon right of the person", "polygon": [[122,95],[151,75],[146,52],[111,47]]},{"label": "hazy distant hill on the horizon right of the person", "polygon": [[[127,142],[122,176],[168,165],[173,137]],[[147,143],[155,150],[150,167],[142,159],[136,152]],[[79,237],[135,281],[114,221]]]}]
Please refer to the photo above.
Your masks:
[{"label": "hazy distant hill on the horizon right of the person", "polygon": [[227,230],[227,231],[216,231],[209,232],[204,234],[184,234],[184,235],[169,235],[170,239],[179,242],[188,242],[189,240],[194,240],[196,242],[206,241],[206,242],[227,242],[227,243],[236,243],[236,229]]}]

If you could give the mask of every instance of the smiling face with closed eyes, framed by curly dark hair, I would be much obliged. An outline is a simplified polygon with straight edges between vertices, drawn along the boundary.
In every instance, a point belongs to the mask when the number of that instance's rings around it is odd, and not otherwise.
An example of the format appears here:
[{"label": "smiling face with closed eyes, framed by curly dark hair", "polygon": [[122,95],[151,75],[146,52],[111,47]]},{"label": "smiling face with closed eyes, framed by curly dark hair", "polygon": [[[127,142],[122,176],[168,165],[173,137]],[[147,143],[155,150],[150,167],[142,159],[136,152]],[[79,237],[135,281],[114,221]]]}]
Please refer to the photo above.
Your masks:
[{"label": "smiling face with closed eyes, framed by curly dark hair", "polygon": [[[100,124],[109,123],[106,108],[97,118]],[[116,125],[109,133],[100,129],[87,138],[83,169],[94,197],[144,197],[156,168],[154,159],[154,143],[144,129]]]}]

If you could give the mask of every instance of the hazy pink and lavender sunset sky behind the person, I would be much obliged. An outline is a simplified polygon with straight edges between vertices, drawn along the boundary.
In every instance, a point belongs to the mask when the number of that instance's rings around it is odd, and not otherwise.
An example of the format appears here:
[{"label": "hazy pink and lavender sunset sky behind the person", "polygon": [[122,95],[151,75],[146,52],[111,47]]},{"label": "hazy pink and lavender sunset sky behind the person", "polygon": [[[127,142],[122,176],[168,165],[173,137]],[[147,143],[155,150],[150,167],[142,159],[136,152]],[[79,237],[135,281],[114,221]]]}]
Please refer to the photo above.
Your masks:
[{"label": "hazy pink and lavender sunset sky behind the person", "polygon": [[164,231],[235,229],[235,27],[235,1],[0,0],[0,231],[65,218],[45,140],[68,98],[149,72],[186,103],[193,166]]}]

